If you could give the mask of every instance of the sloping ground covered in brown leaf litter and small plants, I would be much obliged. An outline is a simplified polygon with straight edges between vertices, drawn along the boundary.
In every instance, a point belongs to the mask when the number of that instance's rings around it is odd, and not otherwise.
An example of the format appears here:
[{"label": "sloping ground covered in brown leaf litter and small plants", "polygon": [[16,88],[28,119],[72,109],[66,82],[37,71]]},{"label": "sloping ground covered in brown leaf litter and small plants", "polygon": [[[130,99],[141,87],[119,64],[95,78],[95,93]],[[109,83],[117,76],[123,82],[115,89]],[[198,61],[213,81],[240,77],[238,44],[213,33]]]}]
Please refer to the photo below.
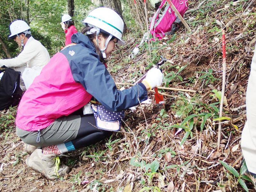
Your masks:
[{"label": "sloping ground covered in brown leaf litter and small plants", "polygon": [[[16,108],[2,111],[0,191],[242,191],[237,178],[219,163],[225,161],[238,172],[241,167],[243,105],[255,44],[256,4],[235,2],[207,0],[198,7],[200,2],[191,1],[185,20],[192,33],[182,26],[174,41],[168,36],[153,42],[151,52],[144,43],[133,59],[130,53],[141,35],[126,36],[127,45],[108,61],[116,83],[134,83],[163,55],[170,60],[163,66],[164,86],[196,93],[160,89],[174,96],[164,96],[165,111],[154,104],[127,110],[123,128],[111,139],[61,156],[61,162],[70,167],[63,178],[50,181],[27,168],[28,155],[15,135]],[[222,124],[220,151],[216,148],[218,124],[213,121],[219,100],[212,92],[221,91],[222,84],[221,27],[216,20],[226,25],[228,105],[223,116],[231,118]],[[117,84],[122,86],[129,87]],[[153,93],[148,94],[154,100]],[[205,114],[210,115],[204,118]],[[180,126],[191,115],[177,133],[179,128],[173,125]],[[254,190],[250,182],[245,183]]]}]

